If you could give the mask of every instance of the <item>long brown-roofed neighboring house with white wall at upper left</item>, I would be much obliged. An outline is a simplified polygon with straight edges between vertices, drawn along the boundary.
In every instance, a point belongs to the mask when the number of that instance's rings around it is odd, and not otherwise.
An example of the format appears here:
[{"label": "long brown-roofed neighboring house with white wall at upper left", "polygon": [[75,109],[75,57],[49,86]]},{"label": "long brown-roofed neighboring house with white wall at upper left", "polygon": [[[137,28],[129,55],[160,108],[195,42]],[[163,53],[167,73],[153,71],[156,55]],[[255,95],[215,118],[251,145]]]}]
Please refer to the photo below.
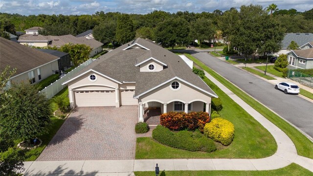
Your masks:
[{"label": "long brown-roofed neighboring house with white wall at upper left", "polygon": [[75,37],[72,35],[63,36],[43,36],[43,35],[23,35],[19,38],[18,43],[29,46],[56,46],[61,47],[64,44],[86,44],[90,46],[92,51],[89,57],[102,51],[102,43],[94,39],[86,39],[85,37]]}]

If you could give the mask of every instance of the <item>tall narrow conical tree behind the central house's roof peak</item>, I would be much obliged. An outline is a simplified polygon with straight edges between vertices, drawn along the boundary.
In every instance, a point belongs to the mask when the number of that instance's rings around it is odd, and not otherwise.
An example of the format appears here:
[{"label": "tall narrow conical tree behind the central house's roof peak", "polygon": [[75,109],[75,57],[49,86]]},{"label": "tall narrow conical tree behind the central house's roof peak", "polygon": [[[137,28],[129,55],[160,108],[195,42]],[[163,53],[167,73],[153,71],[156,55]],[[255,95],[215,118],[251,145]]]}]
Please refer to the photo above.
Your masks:
[{"label": "tall narrow conical tree behind the central house's roof peak", "polygon": [[116,41],[120,44],[126,44],[135,38],[134,24],[128,14],[122,14],[118,17],[116,23]]}]

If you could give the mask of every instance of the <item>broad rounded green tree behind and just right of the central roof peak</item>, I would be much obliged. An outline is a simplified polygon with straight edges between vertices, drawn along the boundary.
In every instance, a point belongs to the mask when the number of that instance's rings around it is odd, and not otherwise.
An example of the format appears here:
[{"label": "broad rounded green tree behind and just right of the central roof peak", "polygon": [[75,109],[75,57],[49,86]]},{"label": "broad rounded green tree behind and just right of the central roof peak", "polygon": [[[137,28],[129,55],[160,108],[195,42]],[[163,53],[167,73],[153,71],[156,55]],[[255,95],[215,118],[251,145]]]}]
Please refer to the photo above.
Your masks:
[{"label": "broad rounded green tree behind and just right of the central roof peak", "polygon": [[182,18],[168,19],[161,22],[155,30],[156,42],[162,46],[171,46],[174,49],[176,44],[189,44],[189,23]]}]

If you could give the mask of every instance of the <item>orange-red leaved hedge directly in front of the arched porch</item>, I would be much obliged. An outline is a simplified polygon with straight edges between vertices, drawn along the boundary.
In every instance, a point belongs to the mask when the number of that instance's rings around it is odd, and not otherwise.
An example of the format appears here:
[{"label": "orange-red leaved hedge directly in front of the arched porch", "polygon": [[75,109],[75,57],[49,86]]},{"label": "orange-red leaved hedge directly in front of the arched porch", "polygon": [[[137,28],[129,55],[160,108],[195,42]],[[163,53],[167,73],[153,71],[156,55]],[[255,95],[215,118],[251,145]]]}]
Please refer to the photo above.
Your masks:
[{"label": "orange-red leaved hedge directly in front of the arched porch", "polygon": [[207,112],[168,112],[161,114],[160,124],[170,130],[195,130],[203,131],[203,127],[210,121]]}]

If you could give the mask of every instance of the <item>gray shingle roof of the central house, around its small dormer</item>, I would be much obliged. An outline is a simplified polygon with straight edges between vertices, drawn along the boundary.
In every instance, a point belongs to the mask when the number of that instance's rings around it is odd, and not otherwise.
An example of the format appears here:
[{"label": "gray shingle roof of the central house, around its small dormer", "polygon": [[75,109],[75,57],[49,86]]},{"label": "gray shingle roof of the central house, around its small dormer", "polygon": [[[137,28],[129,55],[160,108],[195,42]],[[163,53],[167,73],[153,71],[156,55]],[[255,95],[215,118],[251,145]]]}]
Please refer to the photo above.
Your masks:
[{"label": "gray shingle roof of the central house, around its small dormer", "polygon": [[[133,42],[143,45],[146,49],[127,49]],[[159,72],[140,72],[139,66],[134,66],[137,58],[148,59],[150,56],[167,65]],[[138,62],[137,62],[138,63]],[[163,47],[138,38],[135,41],[124,44],[111,52],[104,54],[89,66],[85,67],[72,78],[93,69],[119,82],[135,82],[135,96],[155,88],[156,86],[178,77],[192,85],[201,88],[213,95],[215,92],[209,88],[199,76],[192,72],[189,66],[176,54]],[[153,81],[152,81],[153,80]]]}]

